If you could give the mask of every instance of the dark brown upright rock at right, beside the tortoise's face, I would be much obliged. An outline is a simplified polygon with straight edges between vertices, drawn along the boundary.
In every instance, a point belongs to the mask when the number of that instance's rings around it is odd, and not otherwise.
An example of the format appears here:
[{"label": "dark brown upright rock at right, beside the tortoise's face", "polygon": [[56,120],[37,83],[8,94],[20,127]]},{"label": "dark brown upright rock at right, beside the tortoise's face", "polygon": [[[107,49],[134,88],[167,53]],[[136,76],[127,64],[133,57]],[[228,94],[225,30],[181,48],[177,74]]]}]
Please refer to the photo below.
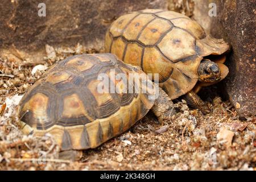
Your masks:
[{"label": "dark brown upright rock at right, beside the tortoise's face", "polygon": [[229,75],[222,84],[240,119],[254,117],[256,115],[255,0],[210,2],[216,3],[216,17],[208,15],[209,2],[199,0],[195,3],[193,18],[215,38],[224,38],[232,45],[233,51],[226,61]]}]

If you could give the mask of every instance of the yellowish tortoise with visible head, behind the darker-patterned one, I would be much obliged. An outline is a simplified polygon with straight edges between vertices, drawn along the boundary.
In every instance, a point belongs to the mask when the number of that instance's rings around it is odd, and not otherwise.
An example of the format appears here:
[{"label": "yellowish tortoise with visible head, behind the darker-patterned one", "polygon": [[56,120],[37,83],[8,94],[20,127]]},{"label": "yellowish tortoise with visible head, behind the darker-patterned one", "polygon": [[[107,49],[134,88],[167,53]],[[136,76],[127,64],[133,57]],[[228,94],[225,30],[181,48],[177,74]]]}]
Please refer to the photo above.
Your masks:
[{"label": "yellowish tortoise with visible head, behind the darker-patterned one", "polygon": [[229,48],[188,16],[160,9],[122,15],[105,35],[105,52],[145,73],[157,73],[159,86],[172,100],[182,96],[204,114],[209,108],[196,93],[228,75],[223,63]]}]

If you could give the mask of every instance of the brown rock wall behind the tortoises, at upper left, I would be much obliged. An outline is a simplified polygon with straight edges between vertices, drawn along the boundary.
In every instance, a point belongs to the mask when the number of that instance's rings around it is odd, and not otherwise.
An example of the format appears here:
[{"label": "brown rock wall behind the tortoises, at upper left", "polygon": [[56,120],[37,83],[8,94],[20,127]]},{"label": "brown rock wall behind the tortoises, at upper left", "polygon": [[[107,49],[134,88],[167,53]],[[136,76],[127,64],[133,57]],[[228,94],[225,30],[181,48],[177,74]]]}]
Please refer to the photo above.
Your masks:
[{"label": "brown rock wall behind the tortoises, at upper left", "polygon": [[45,0],[46,16],[39,16],[41,2],[1,1],[0,56],[40,62],[46,56],[46,44],[72,47],[80,43],[100,49],[106,29],[121,14],[146,8],[167,9],[167,0]]}]

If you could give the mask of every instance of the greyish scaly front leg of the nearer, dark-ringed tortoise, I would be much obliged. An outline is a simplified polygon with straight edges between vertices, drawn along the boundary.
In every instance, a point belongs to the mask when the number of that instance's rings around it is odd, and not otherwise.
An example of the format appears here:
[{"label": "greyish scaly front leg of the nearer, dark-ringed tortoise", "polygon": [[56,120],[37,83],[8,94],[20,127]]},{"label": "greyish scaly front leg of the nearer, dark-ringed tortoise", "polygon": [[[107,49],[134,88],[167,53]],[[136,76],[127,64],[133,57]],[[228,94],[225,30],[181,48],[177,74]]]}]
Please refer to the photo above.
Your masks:
[{"label": "greyish scaly front leg of the nearer, dark-ringed tortoise", "polygon": [[164,120],[169,120],[172,115],[176,114],[176,110],[174,109],[174,103],[167,93],[164,92],[162,88],[158,88],[159,97],[156,98],[155,104],[151,110],[158,118],[158,121],[163,123]]}]

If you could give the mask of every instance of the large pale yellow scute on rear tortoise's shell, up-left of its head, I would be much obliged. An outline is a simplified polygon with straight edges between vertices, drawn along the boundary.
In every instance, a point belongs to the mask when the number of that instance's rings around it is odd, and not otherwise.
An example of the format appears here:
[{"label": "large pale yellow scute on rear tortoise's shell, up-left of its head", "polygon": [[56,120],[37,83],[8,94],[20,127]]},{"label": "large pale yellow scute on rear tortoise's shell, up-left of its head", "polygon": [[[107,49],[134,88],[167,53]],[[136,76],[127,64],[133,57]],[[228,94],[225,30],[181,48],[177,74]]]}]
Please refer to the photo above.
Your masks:
[{"label": "large pale yellow scute on rear tortoise's shell, up-left of its head", "polygon": [[185,57],[196,55],[195,38],[176,27],[164,36],[158,47],[174,63]]}]

